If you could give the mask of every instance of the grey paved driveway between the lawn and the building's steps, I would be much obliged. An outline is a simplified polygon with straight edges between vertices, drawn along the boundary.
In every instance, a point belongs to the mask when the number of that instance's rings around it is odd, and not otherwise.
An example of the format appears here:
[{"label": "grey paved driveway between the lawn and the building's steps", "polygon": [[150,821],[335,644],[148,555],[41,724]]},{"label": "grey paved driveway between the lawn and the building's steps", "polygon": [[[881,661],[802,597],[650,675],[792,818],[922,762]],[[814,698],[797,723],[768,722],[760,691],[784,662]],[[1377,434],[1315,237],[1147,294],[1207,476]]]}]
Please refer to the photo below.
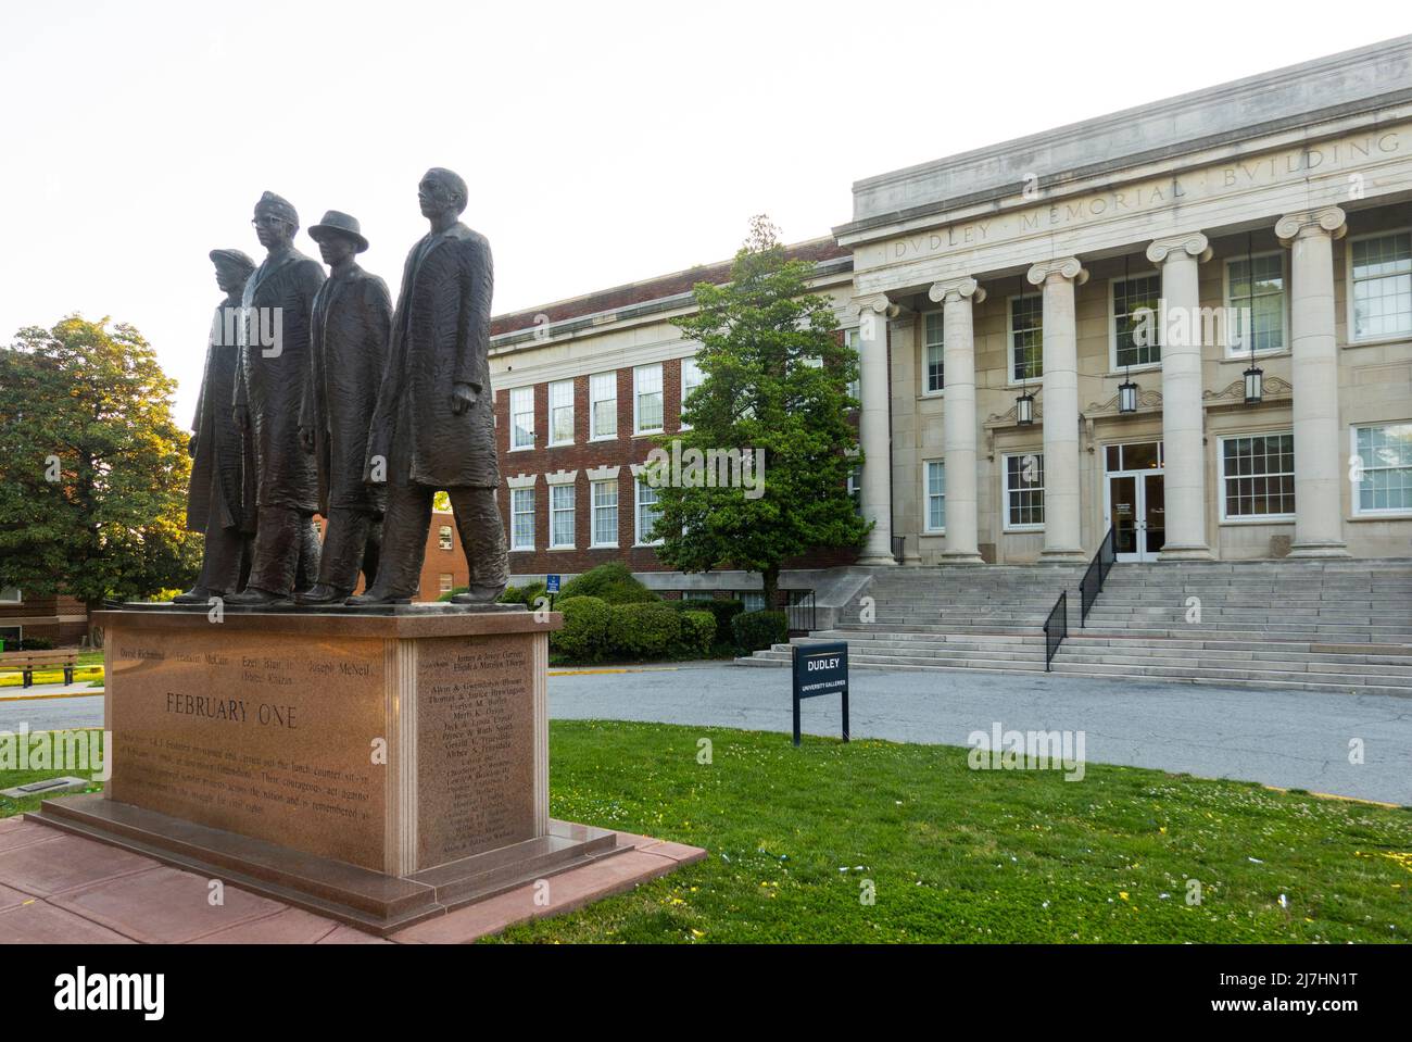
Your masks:
[{"label": "grey paved driveway between the lawn and the building's steps", "polygon": [[[1100,764],[1189,771],[1412,805],[1412,699],[1132,683],[1022,673],[854,669],[853,734],[964,745],[971,731],[1084,731]],[[556,719],[789,731],[789,672],[727,664],[549,675]],[[0,700],[0,730],[96,727],[102,695]],[[803,729],[839,733],[839,700],[803,703]],[[1363,764],[1348,743],[1363,741]]]}]

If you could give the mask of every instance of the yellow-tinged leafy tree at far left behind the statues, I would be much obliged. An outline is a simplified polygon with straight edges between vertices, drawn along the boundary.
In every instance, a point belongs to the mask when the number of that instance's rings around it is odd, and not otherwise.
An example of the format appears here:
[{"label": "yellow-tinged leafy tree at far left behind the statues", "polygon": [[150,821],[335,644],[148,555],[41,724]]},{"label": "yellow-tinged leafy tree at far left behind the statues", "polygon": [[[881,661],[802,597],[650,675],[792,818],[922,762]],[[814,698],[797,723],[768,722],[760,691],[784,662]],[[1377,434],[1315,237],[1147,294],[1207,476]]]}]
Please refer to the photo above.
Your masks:
[{"label": "yellow-tinged leafy tree at far left behind the statues", "polygon": [[182,587],[189,435],[133,326],[78,315],[0,347],[0,586],[89,609]]}]

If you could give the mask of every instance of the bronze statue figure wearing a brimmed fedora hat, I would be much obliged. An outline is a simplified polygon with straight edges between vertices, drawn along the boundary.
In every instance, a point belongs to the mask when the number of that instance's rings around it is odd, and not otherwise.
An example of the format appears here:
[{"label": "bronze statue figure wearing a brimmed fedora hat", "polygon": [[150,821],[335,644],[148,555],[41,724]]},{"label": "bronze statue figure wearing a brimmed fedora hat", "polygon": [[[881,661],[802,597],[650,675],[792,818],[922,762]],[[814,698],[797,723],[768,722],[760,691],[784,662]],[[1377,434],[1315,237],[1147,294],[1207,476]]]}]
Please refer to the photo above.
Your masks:
[{"label": "bronze statue figure wearing a brimmed fedora hat", "polygon": [[367,250],[356,217],[329,210],[309,229],[329,281],[313,298],[309,380],[299,409],[299,442],[319,473],[325,518],[319,580],[294,594],[295,604],[343,604],[359,569],[371,586],[377,575],[385,484],[364,484],[367,424],[387,364],[393,298],[387,284],[359,267]]}]

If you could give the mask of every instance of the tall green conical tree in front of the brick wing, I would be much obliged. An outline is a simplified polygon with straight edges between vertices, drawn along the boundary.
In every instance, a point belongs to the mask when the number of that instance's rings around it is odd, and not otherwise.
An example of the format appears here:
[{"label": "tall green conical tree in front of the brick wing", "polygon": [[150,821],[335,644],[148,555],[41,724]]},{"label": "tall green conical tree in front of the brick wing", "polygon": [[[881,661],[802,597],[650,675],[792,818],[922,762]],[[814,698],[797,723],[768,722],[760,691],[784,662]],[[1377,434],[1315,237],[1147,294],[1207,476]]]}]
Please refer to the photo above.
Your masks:
[{"label": "tall green conical tree in front of the brick wing", "polygon": [[[664,453],[682,462],[681,480],[655,479],[658,556],[683,572],[758,572],[767,604],[784,561],[857,546],[871,527],[847,493],[863,462],[849,419],[858,405],[849,394],[858,356],[839,336],[832,304],[809,292],[812,273],[810,263],[786,258],[767,217],[755,217],[730,281],[696,284],[696,311],[676,326],[700,345],[702,384],[683,407],[690,429],[658,439],[654,453],[659,474]],[[700,487],[692,450],[710,463],[713,449],[754,449],[760,487]],[[706,467],[713,470],[719,476]]]}]

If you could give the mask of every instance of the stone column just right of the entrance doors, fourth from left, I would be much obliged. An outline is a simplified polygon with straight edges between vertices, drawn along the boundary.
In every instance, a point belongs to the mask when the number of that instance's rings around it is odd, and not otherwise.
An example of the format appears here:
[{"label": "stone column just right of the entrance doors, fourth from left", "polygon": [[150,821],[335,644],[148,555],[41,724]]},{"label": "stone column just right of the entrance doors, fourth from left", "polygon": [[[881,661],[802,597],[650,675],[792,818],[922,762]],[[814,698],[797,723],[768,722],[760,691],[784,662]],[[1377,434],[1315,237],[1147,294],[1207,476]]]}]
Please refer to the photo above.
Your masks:
[{"label": "stone column just right of the entrance doors, fourth from left", "polygon": [[1166,544],[1161,561],[1210,559],[1206,542],[1206,411],[1202,405],[1202,298],[1197,264],[1210,260],[1206,236],[1158,239],[1147,251],[1162,267],[1162,459]]}]

